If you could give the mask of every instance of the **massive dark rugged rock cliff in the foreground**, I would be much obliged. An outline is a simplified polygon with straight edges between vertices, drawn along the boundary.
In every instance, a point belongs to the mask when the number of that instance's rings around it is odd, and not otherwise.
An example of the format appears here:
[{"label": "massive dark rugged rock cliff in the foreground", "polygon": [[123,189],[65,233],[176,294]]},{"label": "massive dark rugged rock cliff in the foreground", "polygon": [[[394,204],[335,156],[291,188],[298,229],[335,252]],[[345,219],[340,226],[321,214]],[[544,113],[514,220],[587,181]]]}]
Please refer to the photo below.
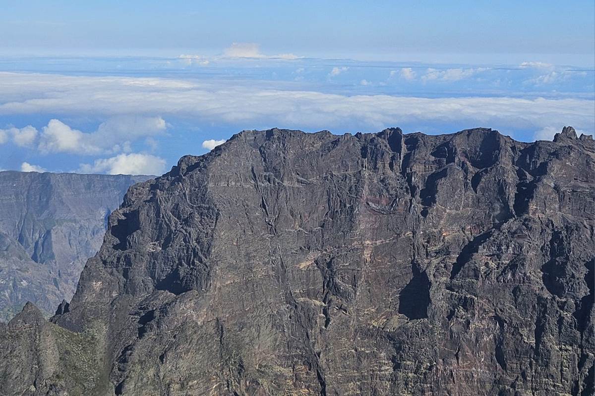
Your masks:
[{"label": "massive dark rugged rock cliff in the foreground", "polygon": [[244,131],[134,185],[4,395],[591,395],[591,137]]}]

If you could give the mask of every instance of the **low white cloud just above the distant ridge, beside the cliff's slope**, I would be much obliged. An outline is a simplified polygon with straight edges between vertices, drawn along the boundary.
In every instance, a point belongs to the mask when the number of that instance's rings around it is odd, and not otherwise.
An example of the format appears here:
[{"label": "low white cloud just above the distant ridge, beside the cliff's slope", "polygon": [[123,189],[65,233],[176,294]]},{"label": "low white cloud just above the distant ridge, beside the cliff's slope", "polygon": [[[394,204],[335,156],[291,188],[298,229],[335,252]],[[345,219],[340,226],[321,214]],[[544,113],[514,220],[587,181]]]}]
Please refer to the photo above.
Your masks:
[{"label": "low white cloud just above the distant ridge, beside the cliff's slope", "polygon": [[95,160],[93,164],[82,164],[79,172],[108,173],[108,175],[161,175],[164,170],[164,159],[150,154],[130,153]]}]

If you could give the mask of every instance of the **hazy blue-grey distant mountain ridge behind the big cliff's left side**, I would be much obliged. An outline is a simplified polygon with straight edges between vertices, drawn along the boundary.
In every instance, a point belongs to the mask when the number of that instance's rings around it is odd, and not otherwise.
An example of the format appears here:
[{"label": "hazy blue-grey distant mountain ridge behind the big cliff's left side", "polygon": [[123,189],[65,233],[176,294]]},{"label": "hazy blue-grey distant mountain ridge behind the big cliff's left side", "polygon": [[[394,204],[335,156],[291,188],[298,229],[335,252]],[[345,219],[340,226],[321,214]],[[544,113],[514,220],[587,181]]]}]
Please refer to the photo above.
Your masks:
[{"label": "hazy blue-grey distant mountain ridge behind the big cliff's left side", "polygon": [[0,321],[29,300],[48,316],[70,300],[107,217],[149,176],[0,172]]}]

